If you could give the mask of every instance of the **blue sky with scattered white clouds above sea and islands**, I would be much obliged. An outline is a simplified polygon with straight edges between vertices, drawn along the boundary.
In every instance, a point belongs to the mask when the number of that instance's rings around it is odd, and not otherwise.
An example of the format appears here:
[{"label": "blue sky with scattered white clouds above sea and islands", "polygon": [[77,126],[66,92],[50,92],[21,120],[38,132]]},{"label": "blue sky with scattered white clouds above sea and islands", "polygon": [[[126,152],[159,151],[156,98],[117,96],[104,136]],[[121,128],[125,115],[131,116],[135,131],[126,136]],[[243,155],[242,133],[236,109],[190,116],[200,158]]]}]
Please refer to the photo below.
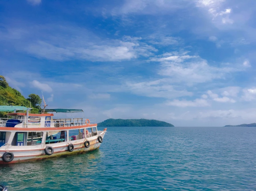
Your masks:
[{"label": "blue sky with scattered white clouds above sea and islands", "polygon": [[0,2],[0,74],[48,108],[175,126],[253,123],[256,1]]}]

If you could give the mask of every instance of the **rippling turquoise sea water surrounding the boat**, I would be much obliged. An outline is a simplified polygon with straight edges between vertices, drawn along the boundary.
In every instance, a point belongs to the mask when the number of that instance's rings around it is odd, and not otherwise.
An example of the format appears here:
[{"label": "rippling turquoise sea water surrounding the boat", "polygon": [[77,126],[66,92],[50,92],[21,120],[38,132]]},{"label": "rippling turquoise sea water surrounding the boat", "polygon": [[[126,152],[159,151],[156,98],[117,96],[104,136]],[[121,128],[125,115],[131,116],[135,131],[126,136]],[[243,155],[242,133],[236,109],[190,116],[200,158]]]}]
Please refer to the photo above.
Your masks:
[{"label": "rippling turquoise sea water surrounding the boat", "polygon": [[0,182],[9,191],[256,190],[256,128],[110,127],[100,149],[2,166]]}]

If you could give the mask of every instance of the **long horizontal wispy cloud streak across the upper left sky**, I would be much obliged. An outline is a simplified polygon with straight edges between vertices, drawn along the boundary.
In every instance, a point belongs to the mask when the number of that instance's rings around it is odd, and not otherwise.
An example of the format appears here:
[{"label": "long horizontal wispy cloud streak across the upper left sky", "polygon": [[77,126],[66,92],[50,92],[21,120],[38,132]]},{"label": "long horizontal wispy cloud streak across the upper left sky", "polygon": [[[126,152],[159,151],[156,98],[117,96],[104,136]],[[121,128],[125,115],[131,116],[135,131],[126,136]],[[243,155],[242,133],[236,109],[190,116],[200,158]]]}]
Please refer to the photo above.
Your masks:
[{"label": "long horizontal wispy cloud streak across the upper left sky", "polygon": [[37,57],[59,61],[70,59],[122,61],[138,58],[139,56],[148,57],[152,55],[151,51],[157,51],[157,49],[139,42],[139,40],[141,38],[125,36],[123,40],[109,40],[105,42],[106,44],[82,44],[75,40],[63,45],[37,41],[30,44],[25,50]]}]

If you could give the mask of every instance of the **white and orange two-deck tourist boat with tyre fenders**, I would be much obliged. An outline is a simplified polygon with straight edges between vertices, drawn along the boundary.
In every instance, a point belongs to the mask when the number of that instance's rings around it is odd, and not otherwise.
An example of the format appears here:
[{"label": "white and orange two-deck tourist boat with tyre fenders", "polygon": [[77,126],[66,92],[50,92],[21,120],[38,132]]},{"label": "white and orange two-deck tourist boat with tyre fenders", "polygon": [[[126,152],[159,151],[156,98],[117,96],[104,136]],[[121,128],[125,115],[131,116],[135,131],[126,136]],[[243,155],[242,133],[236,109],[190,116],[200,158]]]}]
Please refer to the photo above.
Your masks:
[{"label": "white and orange two-deck tourist boat with tyre fenders", "polygon": [[[39,114],[8,113],[0,124],[0,164],[42,160],[98,149],[106,128],[97,130],[95,118],[72,118],[76,109],[44,109]],[[52,113],[50,113],[52,112]],[[53,112],[71,118],[53,119]]]}]

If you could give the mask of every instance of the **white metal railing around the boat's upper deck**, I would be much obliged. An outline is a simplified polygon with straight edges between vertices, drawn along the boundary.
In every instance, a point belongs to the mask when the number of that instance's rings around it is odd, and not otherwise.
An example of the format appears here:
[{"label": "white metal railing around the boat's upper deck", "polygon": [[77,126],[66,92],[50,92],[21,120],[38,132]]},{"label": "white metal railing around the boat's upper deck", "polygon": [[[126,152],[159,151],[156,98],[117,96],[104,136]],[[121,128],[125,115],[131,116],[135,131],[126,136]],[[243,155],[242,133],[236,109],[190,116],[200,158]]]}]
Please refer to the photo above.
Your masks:
[{"label": "white metal railing around the boat's upper deck", "polygon": [[[8,124],[12,124],[11,126],[15,126],[16,124],[23,123],[25,126],[33,126],[35,124],[45,124],[45,127],[52,127],[54,124],[54,127],[74,127],[74,126],[82,126],[82,125],[88,125],[88,124],[96,124],[95,118],[63,118],[63,119],[52,119],[52,120],[41,120],[40,117],[29,119],[27,123],[27,119],[15,119],[12,118],[15,121],[8,121]],[[3,127],[3,125],[6,125],[7,120],[10,120],[10,118],[0,118],[0,127]],[[30,126],[30,127],[31,127]]]}]

